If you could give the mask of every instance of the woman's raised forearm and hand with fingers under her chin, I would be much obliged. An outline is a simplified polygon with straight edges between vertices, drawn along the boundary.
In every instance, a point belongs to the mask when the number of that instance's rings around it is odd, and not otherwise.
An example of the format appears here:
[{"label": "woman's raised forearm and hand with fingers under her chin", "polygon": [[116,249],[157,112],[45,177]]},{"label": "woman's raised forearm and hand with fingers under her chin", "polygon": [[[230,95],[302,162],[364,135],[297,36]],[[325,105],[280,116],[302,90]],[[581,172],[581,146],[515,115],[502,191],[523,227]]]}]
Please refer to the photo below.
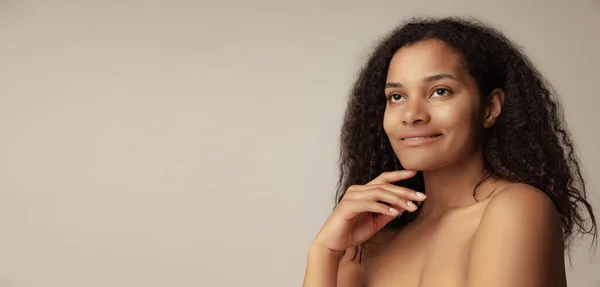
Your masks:
[{"label": "woman's raised forearm and hand with fingers under her chin", "polygon": [[[366,185],[353,185],[333,210],[308,252],[304,287],[360,286],[359,268],[344,257],[404,211],[415,211],[412,201],[424,194],[390,184],[415,175],[413,171],[384,172]],[[354,257],[354,256],[353,256]]]}]

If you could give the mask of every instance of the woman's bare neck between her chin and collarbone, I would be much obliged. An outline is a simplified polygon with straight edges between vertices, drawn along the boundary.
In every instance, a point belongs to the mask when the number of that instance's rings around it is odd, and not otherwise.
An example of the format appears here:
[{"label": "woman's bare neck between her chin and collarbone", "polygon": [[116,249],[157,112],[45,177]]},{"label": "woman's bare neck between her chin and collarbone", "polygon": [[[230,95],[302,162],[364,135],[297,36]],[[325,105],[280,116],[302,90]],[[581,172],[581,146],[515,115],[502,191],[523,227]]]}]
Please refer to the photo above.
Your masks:
[{"label": "woman's bare neck between her chin and collarbone", "polygon": [[450,209],[475,203],[473,190],[484,176],[480,149],[455,164],[423,171],[427,199],[418,218],[439,218]]}]

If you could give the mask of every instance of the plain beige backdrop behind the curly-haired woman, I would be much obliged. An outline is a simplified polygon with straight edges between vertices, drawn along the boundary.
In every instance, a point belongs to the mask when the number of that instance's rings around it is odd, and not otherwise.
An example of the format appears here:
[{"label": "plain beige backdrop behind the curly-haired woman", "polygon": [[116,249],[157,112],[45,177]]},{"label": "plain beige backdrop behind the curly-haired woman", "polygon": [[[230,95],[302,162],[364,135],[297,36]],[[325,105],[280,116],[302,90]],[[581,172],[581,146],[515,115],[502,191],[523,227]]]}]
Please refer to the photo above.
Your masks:
[{"label": "plain beige backdrop behind the curly-haired woman", "polygon": [[[477,16],[522,44],[564,96],[600,217],[599,9],[0,1],[0,286],[300,286],[354,76],[416,15]],[[588,246],[571,286],[600,286]]]}]

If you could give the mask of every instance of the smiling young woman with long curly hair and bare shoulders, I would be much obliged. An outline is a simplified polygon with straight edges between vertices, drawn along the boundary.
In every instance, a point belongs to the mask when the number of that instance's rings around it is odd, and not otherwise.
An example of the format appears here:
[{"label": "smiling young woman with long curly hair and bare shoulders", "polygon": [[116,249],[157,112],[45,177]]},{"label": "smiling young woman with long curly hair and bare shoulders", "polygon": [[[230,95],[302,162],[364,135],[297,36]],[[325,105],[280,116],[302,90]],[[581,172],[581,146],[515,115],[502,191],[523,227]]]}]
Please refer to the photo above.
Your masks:
[{"label": "smiling young woman with long curly hair and bare shoulders", "polygon": [[566,286],[573,236],[596,239],[555,93],[480,22],[413,19],[383,39],[341,144],[305,287]]}]

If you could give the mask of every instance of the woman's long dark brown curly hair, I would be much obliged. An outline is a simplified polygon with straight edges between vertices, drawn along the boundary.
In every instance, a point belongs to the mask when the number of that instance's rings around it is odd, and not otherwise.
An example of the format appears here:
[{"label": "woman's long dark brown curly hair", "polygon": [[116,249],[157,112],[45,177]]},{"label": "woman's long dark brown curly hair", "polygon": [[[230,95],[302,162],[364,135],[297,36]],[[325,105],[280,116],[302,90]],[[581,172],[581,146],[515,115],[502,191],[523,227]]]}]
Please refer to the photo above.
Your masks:
[{"label": "woman's long dark brown curly hair", "polygon": [[[481,97],[495,88],[505,93],[502,113],[483,137],[486,173],[543,191],[561,215],[569,254],[576,234],[592,234],[593,244],[596,219],[586,200],[585,181],[557,93],[516,44],[471,18],[412,18],[376,45],[360,70],[344,115],[336,203],[351,185],[403,169],[383,130],[383,87],[394,53],[430,39],[443,41],[460,55]],[[425,192],[422,172],[395,184]],[[591,227],[586,227],[584,212]],[[415,217],[415,213],[404,213],[385,228],[397,230]]]}]

